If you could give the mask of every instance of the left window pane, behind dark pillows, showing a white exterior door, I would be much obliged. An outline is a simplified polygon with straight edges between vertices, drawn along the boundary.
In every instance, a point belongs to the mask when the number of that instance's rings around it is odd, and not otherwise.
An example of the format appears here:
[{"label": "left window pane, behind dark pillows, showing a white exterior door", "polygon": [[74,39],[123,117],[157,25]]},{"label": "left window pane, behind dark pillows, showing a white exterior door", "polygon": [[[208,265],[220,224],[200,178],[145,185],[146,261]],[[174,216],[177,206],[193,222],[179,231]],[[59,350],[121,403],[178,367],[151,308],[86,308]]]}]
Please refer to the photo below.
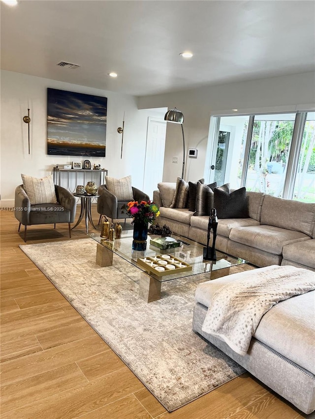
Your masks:
[{"label": "left window pane, behind dark pillows, showing a white exterior door", "polygon": [[241,187],[248,121],[249,116],[222,116],[220,119],[213,178],[218,186],[229,182],[232,189]]}]

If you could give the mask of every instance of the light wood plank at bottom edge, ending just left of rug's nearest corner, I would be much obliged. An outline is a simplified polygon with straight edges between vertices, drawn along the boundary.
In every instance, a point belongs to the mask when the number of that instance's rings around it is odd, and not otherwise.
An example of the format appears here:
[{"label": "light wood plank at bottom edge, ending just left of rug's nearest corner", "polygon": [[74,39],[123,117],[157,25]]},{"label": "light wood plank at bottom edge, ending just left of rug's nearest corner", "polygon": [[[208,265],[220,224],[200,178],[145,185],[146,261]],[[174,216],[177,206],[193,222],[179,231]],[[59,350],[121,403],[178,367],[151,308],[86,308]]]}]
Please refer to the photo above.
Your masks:
[{"label": "light wood plank at bottom edge, ending just left of rug's nearest corner", "polygon": [[80,419],[152,419],[139,401],[130,394],[120,400],[107,404],[93,412],[80,416]]}]

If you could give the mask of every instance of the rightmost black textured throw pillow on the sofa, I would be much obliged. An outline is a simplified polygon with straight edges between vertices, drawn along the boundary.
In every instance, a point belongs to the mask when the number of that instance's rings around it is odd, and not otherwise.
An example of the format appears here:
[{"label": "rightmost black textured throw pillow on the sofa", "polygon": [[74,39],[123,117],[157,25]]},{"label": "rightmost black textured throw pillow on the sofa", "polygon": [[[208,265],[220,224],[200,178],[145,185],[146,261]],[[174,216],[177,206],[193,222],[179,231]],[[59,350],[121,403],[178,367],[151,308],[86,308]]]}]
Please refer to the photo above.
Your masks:
[{"label": "rightmost black textured throw pillow on the sofa", "polygon": [[219,219],[248,218],[246,188],[240,188],[231,193],[221,188],[215,188],[214,207]]}]

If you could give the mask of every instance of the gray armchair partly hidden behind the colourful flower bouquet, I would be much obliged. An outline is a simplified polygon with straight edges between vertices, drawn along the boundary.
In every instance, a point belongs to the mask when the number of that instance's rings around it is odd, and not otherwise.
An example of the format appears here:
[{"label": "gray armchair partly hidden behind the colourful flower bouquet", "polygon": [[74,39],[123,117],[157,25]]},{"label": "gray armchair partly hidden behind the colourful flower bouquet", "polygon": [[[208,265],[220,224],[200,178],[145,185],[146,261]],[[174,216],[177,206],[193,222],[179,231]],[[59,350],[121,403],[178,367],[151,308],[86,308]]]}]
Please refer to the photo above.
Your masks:
[{"label": "gray armchair partly hidden behind the colourful flower bouquet", "polygon": [[[148,201],[150,198],[147,194],[140,191],[137,188],[132,186],[133,200],[135,201]],[[100,214],[98,224],[102,216],[114,219],[126,219],[129,218],[129,214],[126,213],[126,210],[123,212],[122,206],[127,204],[129,201],[118,201],[117,197],[108,191],[106,185],[101,185],[98,188],[99,198],[97,199],[97,212]]]}]

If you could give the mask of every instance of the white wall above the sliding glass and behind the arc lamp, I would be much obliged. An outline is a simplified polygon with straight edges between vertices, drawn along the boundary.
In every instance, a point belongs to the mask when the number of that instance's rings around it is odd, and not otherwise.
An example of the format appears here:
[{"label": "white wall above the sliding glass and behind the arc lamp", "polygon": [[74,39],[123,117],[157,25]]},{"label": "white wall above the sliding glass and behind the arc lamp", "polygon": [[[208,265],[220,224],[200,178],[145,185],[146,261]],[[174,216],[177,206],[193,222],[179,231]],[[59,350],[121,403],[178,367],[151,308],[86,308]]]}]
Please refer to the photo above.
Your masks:
[{"label": "white wall above the sliding glass and behind the arc lamp", "polygon": [[[210,116],[255,112],[289,112],[315,108],[315,73],[303,73],[269,79],[252,80],[216,86],[203,86],[186,91],[143,96],[138,108],[169,109],[184,113],[185,140],[188,148],[197,148],[197,159],[187,159],[186,180],[203,177],[208,143]],[[232,109],[238,109],[233,112]],[[169,123],[163,181],[174,182],[182,172],[183,141],[181,128]],[[178,164],[172,158],[178,157]]]}]

